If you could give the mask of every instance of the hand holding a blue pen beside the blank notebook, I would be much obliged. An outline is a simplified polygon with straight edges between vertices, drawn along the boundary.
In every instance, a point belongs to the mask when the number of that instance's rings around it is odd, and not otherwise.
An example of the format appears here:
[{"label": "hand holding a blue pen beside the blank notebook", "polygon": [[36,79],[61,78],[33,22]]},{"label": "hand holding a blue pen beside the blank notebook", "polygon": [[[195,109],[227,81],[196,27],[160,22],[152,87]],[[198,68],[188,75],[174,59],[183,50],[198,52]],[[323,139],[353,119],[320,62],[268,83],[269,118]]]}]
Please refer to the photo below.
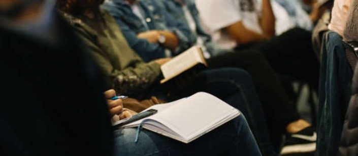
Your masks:
[{"label": "hand holding a blue pen beside the blank notebook", "polygon": [[111,90],[105,91],[104,94],[105,94],[105,97],[107,98],[107,105],[108,105],[109,111],[111,112],[111,115],[112,116],[121,115],[121,113],[123,111],[122,99],[116,99],[116,100],[109,99],[113,96],[116,96],[116,91],[111,89]]}]

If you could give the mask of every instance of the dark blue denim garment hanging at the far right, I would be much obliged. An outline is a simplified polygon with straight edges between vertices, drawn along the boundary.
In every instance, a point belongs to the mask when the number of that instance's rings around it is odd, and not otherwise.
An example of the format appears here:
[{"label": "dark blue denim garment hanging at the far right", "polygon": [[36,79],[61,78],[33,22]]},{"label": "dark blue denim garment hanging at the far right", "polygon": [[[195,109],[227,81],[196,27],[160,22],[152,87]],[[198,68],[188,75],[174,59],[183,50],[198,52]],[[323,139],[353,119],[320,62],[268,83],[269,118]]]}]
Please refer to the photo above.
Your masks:
[{"label": "dark blue denim garment hanging at the far right", "polygon": [[337,155],[352,79],[345,47],[337,33],[327,32],[321,60],[316,155]]}]

